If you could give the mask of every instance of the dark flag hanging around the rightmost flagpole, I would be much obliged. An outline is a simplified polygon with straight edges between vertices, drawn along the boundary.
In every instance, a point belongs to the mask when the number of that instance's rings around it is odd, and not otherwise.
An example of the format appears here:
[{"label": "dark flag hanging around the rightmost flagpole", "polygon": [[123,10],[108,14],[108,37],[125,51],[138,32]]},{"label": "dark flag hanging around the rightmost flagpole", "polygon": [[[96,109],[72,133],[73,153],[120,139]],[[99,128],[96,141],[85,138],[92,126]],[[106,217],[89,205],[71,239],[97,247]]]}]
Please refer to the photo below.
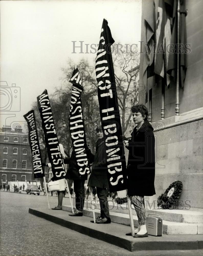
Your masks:
[{"label": "dark flag hanging around the rightmost flagpole", "polygon": [[[186,20],[185,20],[186,13],[184,12],[185,12],[185,1],[182,0],[180,1],[180,41],[179,43],[182,44],[183,46],[185,46],[187,43]],[[174,8],[173,8],[173,30],[172,30],[172,38],[171,38],[171,44],[172,44],[171,47],[173,47],[173,45],[177,46],[178,42],[176,37],[177,37],[177,0],[174,1]],[[177,47],[176,47],[176,52],[177,52]],[[183,88],[184,80],[186,76],[186,70],[187,70],[187,54],[183,51],[179,53],[179,58],[180,58],[179,84]],[[167,73],[175,78],[176,70],[177,70],[176,54],[175,52],[173,52],[172,54],[169,55]]]}]

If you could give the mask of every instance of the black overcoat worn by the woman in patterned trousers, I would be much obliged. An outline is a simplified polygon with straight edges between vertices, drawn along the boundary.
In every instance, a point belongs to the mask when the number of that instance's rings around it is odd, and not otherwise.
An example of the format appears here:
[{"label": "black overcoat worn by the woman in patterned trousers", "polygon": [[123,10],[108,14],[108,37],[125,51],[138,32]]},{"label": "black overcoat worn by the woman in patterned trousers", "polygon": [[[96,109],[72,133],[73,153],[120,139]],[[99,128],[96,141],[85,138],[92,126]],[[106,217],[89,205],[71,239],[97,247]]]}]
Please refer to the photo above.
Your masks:
[{"label": "black overcoat worn by the woman in patterned trousers", "polygon": [[127,163],[127,194],[129,196],[155,195],[155,139],[153,127],[147,121],[129,140]]}]

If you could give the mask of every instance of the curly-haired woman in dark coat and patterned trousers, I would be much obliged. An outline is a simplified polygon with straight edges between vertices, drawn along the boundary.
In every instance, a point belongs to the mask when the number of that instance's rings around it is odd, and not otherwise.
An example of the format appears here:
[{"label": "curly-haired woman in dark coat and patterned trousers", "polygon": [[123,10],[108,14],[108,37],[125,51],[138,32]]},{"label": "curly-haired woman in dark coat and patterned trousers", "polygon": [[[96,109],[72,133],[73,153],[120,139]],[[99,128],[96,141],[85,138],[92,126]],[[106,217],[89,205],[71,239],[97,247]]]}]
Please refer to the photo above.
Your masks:
[{"label": "curly-haired woman in dark coat and patterned trousers", "polygon": [[[155,139],[153,127],[148,122],[148,110],[145,105],[132,107],[133,121],[137,125],[131,133],[131,139],[124,141],[129,150],[127,163],[127,195],[135,207],[138,228],[134,237],[147,237],[144,196],[155,195]],[[126,235],[131,235],[127,233]]]}]

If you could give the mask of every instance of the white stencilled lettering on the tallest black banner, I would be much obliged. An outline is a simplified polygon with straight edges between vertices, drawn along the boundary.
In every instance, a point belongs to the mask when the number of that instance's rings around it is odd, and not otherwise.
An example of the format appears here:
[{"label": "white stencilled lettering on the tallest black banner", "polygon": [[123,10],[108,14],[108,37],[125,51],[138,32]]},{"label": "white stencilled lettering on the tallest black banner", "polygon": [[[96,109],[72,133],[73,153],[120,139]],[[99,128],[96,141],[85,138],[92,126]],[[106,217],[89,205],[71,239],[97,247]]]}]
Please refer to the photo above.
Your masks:
[{"label": "white stencilled lettering on the tallest black banner", "polygon": [[[112,106],[112,102],[114,102],[115,95],[113,95],[113,80],[111,80],[110,76],[111,66],[108,65],[107,61],[109,59],[109,52],[106,50],[106,47],[108,46],[109,42],[105,42],[105,35],[106,34],[104,34],[104,28],[102,28],[99,47],[97,50],[97,57],[95,59],[95,71],[98,82],[98,98],[100,103],[101,120],[104,122],[106,121],[106,123],[112,122],[110,124],[105,123],[103,126],[103,131],[104,135],[107,136],[105,139],[105,145],[107,147],[106,160],[108,164],[108,173],[112,175],[110,177],[110,183],[112,186],[115,186],[120,182],[123,184],[123,175],[121,173],[119,176],[115,175],[116,172],[122,172],[121,156],[123,153],[120,150],[121,147],[118,146],[119,140],[118,136],[116,136],[118,132],[117,129],[120,124],[117,122],[115,123],[115,109],[114,105]],[[106,105],[102,104],[103,99],[107,101]],[[115,136],[113,136],[113,134],[115,134]],[[113,163],[111,161],[113,161]],[[114,181],[115,179],[116,181]]]}]

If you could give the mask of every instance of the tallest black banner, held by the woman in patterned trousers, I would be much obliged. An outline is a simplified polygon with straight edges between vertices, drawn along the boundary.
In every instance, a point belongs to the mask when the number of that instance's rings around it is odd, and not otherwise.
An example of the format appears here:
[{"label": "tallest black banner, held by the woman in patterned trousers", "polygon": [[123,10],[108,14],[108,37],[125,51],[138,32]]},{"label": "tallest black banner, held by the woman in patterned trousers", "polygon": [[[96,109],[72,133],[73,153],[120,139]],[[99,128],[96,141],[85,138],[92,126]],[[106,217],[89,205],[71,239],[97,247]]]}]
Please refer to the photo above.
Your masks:
[{"label": "tallest black banner, held by the woman in patterned trousers", "polygon": [[114,40],[107,20],[103,20],[95,63],[102,131],[105,136],[107,175],[110,191],[126,188],[126,162],[116,92],[111,45]]}]

